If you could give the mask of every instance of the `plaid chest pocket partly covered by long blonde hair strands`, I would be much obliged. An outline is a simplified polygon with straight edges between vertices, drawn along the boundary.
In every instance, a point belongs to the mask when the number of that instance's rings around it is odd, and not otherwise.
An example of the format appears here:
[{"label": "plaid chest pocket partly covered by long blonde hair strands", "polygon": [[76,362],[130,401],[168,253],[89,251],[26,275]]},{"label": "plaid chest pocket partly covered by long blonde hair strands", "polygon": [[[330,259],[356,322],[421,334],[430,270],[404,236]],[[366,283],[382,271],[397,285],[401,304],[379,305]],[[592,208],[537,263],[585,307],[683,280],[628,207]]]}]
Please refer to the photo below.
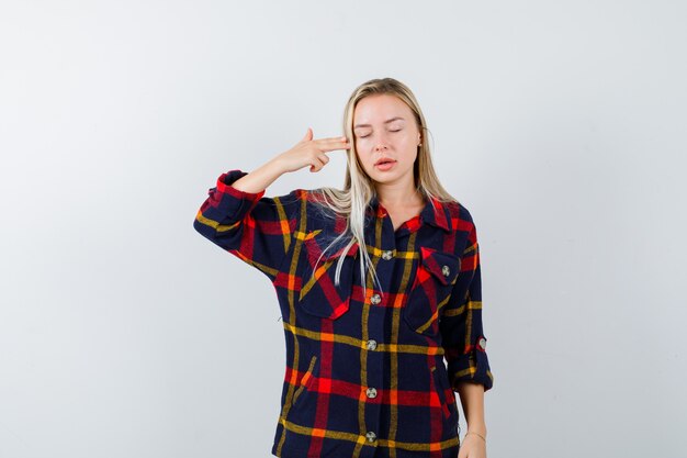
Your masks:
[{"label": "plaid chest pocket partly covered by long blonde hair strands", "polygon": [[[353,243],[346,252],[339,284],[335,284],[337,262],[346,246],[329,248],[323,255],[323,249],[330,241],[318,238],[308,234],[303,241],[306,253],[300,269],[302,288],[299,292],[299,308],[314,316],[336,320],[348,312],[350,305],[358,243]],[[315,262],[317,268],[313,275]]]}]

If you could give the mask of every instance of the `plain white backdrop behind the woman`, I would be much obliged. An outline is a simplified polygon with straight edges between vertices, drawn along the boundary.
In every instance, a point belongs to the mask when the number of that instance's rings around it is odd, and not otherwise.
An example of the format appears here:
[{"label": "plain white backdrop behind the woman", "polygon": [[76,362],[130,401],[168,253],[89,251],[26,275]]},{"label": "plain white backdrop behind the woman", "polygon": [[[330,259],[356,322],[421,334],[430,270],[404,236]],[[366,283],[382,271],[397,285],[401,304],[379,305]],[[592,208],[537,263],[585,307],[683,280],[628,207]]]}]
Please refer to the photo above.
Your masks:
[{"label": "plain white backdrop behind the woman", "polygon": [[[217,177],[354,87],[417,96],[471,211],[489,458],[685,457],[682,1],[0,3],[0,457],[269,457],[267,277],[198,234]],[[296,187],[344,185],[342,152]],[[461,413],[461,428],[465,423]]]}]

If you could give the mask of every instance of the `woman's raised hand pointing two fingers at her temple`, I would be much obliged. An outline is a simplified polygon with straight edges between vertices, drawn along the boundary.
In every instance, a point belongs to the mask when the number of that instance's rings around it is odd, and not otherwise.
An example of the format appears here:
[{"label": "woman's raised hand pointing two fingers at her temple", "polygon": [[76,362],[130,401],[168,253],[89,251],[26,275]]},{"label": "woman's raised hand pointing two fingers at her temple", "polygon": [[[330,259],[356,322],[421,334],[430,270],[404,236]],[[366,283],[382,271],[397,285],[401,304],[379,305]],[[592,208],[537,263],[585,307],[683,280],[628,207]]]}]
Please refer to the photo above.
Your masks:
[{"label": "woman's raised hand pointing two fingers at her temple", "polygon": [[326,155],[336,149],[349,149],[346,137],[329,137],[313,139],[313,130],[307,129],[305,136],[294,147],[277,156],[283,171],[296,171],[311,166],[312,172],[317,172],[329,161]]}]

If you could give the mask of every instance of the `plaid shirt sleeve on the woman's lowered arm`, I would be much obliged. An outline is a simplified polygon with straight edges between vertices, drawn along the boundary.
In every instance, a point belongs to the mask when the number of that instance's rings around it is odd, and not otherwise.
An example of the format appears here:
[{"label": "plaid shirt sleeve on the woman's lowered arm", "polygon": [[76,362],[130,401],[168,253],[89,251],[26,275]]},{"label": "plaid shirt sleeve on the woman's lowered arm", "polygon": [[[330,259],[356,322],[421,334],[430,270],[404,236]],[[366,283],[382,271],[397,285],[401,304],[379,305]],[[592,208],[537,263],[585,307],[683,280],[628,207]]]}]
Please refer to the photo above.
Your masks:
[{"label": "plaid shirt sleeve on the woman's lowered arm", "polygon": [[461,271],[443,309],[439,328],[453,390],[458,391],[458,384],[465,381],[482,383],[484,391],[489,390],[494,376],[482,326],[482,275],[474,224],[468,235],[461,256]]}]

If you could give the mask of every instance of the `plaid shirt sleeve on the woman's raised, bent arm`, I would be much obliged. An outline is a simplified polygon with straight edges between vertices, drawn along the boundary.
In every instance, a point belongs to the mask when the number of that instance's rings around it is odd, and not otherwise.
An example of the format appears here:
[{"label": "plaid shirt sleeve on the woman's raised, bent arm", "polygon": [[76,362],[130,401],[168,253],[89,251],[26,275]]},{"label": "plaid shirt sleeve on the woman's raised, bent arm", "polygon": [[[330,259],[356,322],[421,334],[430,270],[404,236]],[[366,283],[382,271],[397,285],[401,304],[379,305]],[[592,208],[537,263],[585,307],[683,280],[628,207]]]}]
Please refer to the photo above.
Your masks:
[{"label": "plaid shirt sleeve on the woman's raised, bent arm", "polygon": [[248,172],[222,174],[195,215],[193,227],[215,245],[256,267],[274,282],[293,242],[303,190],[267,198],[232,186]]}]

